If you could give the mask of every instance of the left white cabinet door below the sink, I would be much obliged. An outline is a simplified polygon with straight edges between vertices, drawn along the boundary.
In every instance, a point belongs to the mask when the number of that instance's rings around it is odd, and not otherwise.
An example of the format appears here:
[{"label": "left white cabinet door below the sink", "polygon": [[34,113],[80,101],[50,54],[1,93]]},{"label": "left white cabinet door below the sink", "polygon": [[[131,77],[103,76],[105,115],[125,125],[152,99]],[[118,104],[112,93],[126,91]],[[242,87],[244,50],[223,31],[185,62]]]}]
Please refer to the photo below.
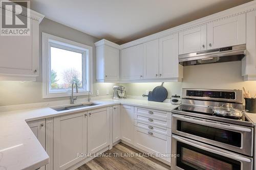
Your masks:
[{"label": "left white cabinet door below the sink", "polygon": [[67,169],[87,153],[87,112],[54,117],[54,169]]}]

